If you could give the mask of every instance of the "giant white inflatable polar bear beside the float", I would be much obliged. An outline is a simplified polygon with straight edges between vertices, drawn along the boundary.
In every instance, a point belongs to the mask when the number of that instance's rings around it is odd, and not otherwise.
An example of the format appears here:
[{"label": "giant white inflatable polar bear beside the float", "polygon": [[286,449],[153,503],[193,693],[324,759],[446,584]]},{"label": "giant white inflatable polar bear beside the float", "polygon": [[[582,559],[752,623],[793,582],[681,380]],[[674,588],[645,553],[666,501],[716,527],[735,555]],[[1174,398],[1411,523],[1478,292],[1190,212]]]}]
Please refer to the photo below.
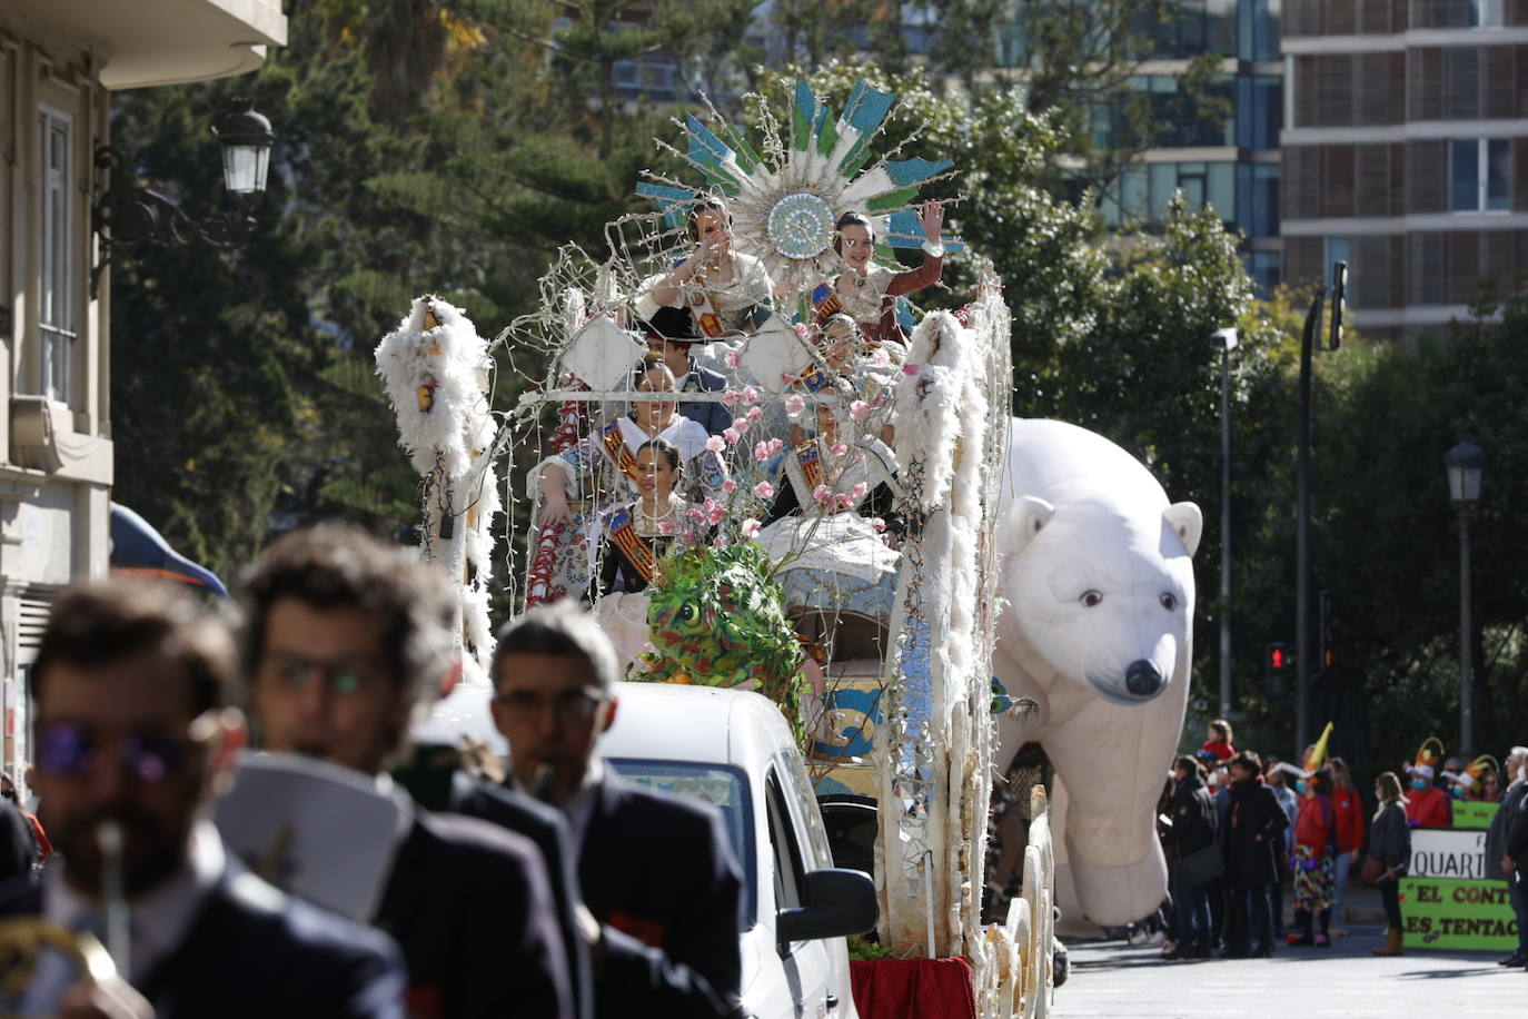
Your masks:
[{"label": "giant white inflatable polar bear beside the float", "polygon": [[1155,807],[1187,706],[1204,519],[1086,429],[1015,419],[1010,443],[993,672],[1039,709],[999,717],[995,764],[1045,749],[1056,901],[1125,924],[1167,892]]}]

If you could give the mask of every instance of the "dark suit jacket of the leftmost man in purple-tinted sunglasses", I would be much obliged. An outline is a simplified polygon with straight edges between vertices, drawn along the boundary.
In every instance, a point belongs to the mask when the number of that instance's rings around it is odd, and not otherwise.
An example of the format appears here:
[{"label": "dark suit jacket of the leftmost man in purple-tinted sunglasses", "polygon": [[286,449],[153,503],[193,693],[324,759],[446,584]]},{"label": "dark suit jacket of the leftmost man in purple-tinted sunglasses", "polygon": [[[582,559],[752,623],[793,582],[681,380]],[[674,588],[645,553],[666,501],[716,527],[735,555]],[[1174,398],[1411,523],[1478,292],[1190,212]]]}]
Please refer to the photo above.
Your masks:
[{"label": "dark suit jacket of the leftmost man in purple-tinted sunglasses", "polygon": [[[38,882],[8,888],[0,915],[41,914]],[[138,990],[157,1019],[402,1019],[403,984],[397,946],[380,932],[231,865]]]}]

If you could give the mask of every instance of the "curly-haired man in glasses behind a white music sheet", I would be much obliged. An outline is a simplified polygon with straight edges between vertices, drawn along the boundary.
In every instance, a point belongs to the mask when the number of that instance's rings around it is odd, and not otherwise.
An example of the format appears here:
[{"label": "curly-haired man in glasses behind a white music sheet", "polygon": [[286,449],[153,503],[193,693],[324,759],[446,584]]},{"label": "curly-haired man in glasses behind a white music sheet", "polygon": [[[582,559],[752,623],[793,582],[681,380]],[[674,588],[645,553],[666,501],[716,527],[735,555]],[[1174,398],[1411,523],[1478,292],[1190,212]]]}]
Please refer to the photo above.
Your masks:
[{"label": "curly-haired man in glasses behind a white music sheet", "polygon": [[[354,529],[277,541],[243,591],[264,746],[385,782],[416,707],[460,668],[446,584]],[[568,1019],[565,952],[535,846],[477,819],[406,813],[374,921],[403,949],[410,1013]]]}]

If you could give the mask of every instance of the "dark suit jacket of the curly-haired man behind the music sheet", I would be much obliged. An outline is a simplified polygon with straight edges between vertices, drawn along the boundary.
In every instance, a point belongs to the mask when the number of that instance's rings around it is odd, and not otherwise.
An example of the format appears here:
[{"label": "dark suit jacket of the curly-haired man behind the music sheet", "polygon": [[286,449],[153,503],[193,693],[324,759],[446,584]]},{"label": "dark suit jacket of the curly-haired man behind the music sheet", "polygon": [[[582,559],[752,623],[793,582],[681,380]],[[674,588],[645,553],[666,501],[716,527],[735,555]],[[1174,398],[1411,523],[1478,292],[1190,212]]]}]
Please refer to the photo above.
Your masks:
[{"label": "dark suit jacket of the curly-haired man behind the music sheet", "polygon": [[536,846],[419,810],[376,924],[408,962],[408,1004],[445,1019],[571,1019],[562,937]]}]

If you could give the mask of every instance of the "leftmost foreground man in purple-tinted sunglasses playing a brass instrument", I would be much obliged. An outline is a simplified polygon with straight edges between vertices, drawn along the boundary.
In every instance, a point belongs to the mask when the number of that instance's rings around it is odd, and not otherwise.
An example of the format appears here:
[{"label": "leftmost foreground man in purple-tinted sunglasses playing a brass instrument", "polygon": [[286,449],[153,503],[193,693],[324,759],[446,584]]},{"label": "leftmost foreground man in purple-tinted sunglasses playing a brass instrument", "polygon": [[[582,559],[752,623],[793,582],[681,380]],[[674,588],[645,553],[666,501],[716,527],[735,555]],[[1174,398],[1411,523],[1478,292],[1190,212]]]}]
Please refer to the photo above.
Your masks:
[{"label": "leftmost foreground man in purple-tinted sunglasses playing a brass instrument", "polygon": [[[397,947],[244,872],[206,820],[243,744],[235,668],[223,622],[168,588],[113,581],[53,602],[32,692],[35,785],[61,859],[0,912],[95,933],[160,1019],[400,1017]],[[130,998],[61,1014],[147,1014]]]}]

